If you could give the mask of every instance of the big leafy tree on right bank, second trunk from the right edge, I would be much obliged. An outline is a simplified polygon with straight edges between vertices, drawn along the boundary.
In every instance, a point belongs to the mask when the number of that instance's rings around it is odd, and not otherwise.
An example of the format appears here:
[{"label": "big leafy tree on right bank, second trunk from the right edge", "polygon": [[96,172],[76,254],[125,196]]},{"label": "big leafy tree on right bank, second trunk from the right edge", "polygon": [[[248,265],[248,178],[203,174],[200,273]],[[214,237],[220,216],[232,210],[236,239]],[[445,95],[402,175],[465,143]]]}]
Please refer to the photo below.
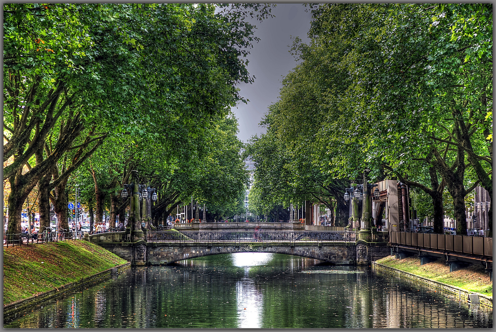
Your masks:
[{"label": "big leafy tree on right bank, second trunk from the right edge", "polygon": [[[344,138],[357,144],[372,174],[380,167],[402,171],[419,160],[434,167],[454,197],[463,234],[463,201],[476,181],[466,182],[466,146],[457,140],[467,124],[471,133],[478,132],[475,119],[487,112],[476,115],[467,105],[485,98],[491,76],[479,75],[486,65],[464,62],[464,51],[473,47],[470,38],[451,40],[445,30],[429,31],[434,10],[413,4],[320,5],[313,11],[312,44],[296,43],[294,49],[305,61],[320,57],[311,81],[317,81],[312,91],[325,93],[319,106],[329,109],[326,120],[334,128],[327,141]],[[332,80],[320,83],[320,68],[330,68]],[[457,105],[465,105],[466,118]],[[474,136],[471,142],[481,146],[482,139]],[[351,160],[344,164],[351,172]]]}]

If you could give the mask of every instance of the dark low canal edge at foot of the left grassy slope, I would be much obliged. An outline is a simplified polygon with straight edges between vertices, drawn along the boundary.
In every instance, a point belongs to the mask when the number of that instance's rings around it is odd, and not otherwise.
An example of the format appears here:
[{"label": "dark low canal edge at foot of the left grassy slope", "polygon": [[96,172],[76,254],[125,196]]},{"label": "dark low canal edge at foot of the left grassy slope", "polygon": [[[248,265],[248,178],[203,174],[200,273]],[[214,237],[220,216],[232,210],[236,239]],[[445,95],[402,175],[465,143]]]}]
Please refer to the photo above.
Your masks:
[{"label": "dark low canal edge at foot of the left grassy slope", "polygon": [[22,300],[18,300],[18,301],[12,302],[12,303],[5,304],[3,306],[3,317],[5,318],[5,316],[7,316],[7,315],[10,315],[10,314],[15,313],[17,311],[21,311],[21,310],[23,310],[27,307],[30,307],[34,304],[37,304],[37,303],[40,303],[42,301],[48,300],[49,298],[61,295],[63,293],[66,293],[66,292],[71,291],[73,289],[76,289],[78,287],[82,287],[82,286],[88,285],[90,283],[93,283],[93,284],[98,283],[98,282],[102,281],[104,278],[106,278],[107,276],[110,276],[111,273],[113,272],[112,270],[117,269],[117,272],[119,272],[119,271],[122,271],[124,269],[129,268],[130,266],[131,266],[131,262],[127,262],[125,264],[118,265],[116,267],[107,269],[105,271],[98,272],[92,276],[82,278],[79,281],[75,281],[75,282],[72,282],[72,283],[69,283],[66,285],[62,285],[59,288],[54,288],[52,290],[48,290],[46,292],[36,294],[36,295],[31,296],[31,297],[24,298]]}]

